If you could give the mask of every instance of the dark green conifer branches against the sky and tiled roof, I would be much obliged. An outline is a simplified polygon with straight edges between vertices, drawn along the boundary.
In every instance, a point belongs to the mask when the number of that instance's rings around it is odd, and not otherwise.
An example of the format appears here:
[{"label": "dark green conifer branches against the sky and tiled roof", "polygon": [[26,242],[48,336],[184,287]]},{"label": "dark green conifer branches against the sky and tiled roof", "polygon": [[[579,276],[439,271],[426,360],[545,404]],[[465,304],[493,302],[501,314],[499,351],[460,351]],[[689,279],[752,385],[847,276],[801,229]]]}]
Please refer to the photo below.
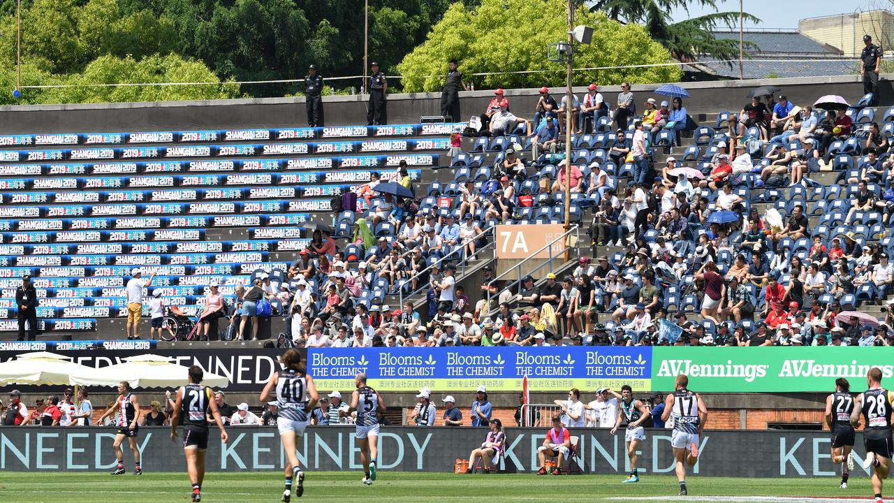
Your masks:
[{"label": "dark green conifer branches against the sky and tiled roof", "polygon": [[[655,41],[680,60],[693,60],[698,55],[712,55],[718,59],[738,59],[738,41],[714,38],[712,31],[720,26],[738,25],[735,12],[714,12],[672,22],[671,12],[683,9],[688,13],[691,4],[710,6],[717,11],[715,0],[596,0],[590,9],[604,12],[609,19],[622,23],[640,23]],[[744,13],[745,21],[760,22],[755,16]],[[755,47],[746,43],[749,48]]]}]

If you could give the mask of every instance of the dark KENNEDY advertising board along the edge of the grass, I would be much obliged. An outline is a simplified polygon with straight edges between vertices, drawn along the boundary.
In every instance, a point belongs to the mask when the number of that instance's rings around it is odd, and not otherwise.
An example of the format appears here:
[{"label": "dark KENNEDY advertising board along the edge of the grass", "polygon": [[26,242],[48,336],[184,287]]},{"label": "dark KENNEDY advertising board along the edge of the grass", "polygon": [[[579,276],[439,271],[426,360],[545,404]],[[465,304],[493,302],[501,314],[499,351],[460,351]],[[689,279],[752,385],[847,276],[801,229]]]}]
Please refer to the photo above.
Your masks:
[{"label": "dark KENNEDY advertising board along the edge of the grass", "polygon": [[[168,428],[139,431],[143,470],[180,471],[182,448],[169,439]],[[545,430],[507,429],[506,456],[501,468],[510,473],[536,470],[536,450]],[[222,445],[215,432],[208,442],[207,470],[274,471],[285,463],[275,428],[232,427]],[[384,428],[379,437],[379,468],[383,472],[452,472],[456,459],[468,458],[485,438],[483,428]],[[625,473],[628,458],[623,435],[606,430],[572,431],[579,437],[575,465],[582,473]],[[857,446],[862,446],[857,435]],[[0,470],[12,472],[103,471],[114,468],[110,457],[114,431],[91,428],[0,429]],[[762,448],[755,448],[762,446]],[[701,439],[696,476],[832,477],[831,438],[803,431],[709,431]],[[673,473],[670,430],[647,430],[639,473]],[[855,449],[857,465],[864,449]],[[109,460],[112,460],[111,462]],[[311,471],[360,470],[359,448],[353,427],[309,428],[299,439],[299,460]],[[858,468],[851,476],[864,476]],[[387,474],[383,474],[387,477]]]}]

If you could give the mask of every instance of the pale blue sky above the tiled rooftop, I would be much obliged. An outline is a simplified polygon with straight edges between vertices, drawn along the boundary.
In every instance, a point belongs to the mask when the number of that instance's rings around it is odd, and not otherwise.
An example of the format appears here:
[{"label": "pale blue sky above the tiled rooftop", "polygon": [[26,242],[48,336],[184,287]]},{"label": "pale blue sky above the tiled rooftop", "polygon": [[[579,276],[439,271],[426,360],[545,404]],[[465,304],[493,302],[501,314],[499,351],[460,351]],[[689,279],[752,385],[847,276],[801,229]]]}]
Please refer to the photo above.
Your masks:
[{"label": "pale blue sky above the tiled rooftop", "polygon": [[[694,2],[694,4],[696,3]],[[853,2],[842,2],[841,0],[810,0],[809,9],[790,8],[795,7],[796,5],[807,4],[805,0],[796,0],[795,2],[744,0],[744,4],[746,13],[750,13],[761,19],[761,22],[757,25],[746,21],[745,28],[784,28],[794,30],[797,29],[797,21],[802,18],[853,13],[854,9],[869,10],[871,4],[889,4],[889,2],[887,0],[856,0]],[[786,7],[781,12],[780,5]],[[717,7],[720,12],[738,12],[738,0],[717,0]],[[890,8],[891,6],[889,6],[889,9]],[[684,21],[689,17],[697,17],[711,12],[713,11],[710,7],[704,8],[696,4],[696,6],[689,8],[689,14],[679,10],[674,12],[672,17],[674,21]]]}]

